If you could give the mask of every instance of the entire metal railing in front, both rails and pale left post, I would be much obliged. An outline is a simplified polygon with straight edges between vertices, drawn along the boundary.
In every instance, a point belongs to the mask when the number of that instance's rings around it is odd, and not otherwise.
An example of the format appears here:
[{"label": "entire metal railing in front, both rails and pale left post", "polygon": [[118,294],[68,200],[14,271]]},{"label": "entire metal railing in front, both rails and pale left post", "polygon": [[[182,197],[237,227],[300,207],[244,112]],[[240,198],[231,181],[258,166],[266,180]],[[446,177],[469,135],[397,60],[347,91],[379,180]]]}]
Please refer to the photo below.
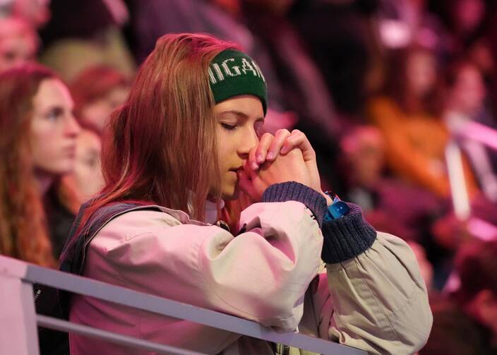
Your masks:
[{"label": "entire metal railing in front, both rails and pale left post", "polygon": [[37,355],[37,326],[64,332],[73,332],[86,337],[104,339],[128,347],[155,351],[160,354],[200,354],[195,351],[169,347],[164,344],[148,342],[143,339],[119,335],[115,332],[100,330],[71,323],[66,320],[37,315],[33,298],[32,284],[71,291],[75,294],[92,296],[104,301],[150,311],[164,316],[190,320],[195,323],[215,327],[240,335],[247,335],[270,342],[286,344],[291,347],[329,355],[366,355],[366,351],[347,347],[302,335],[297,332],[278,333],[270,327],[191,306],[186,303],[163,299],[124,287],[98,282],[66,272],[50,270],[13,258],[0,255],[0,354]]}]

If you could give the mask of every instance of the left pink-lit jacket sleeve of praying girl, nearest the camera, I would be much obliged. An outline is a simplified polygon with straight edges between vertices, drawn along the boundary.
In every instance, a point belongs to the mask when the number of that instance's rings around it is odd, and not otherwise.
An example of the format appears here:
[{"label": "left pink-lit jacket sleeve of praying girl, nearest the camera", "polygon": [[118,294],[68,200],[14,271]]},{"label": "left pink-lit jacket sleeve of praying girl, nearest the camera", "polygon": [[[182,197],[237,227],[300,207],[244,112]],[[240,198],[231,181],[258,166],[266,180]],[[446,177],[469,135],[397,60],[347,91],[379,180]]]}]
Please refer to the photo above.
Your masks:
[{"label": "left pink-lit jacket sleeve of praying girl, nearest the camera", "polygon": [[323,246],[304,204],[251,205],[241,215],[246,232],[236,237],[182,222],[155,211],[117,217],[90,244],[90,277],[110,275],[112,283],[138,291],[282,330],[297,327]]}]

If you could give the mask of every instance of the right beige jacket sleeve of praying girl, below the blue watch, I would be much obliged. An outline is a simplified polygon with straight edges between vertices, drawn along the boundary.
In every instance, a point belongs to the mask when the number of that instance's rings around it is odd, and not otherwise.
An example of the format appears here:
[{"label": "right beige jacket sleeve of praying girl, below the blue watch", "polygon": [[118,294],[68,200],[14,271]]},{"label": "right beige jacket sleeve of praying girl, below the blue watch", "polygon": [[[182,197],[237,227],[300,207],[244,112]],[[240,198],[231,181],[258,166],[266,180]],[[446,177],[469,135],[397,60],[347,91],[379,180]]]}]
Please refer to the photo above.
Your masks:
[{"label": "right beige jacket sleeve of praying girl, below the blue watch", "polygon": [[426,344],[433,321],[426,286],[402,239],[378,232],[371,248],[326,265],[313,284],[307,299],[320,337],[369,354],[415,354]]}]

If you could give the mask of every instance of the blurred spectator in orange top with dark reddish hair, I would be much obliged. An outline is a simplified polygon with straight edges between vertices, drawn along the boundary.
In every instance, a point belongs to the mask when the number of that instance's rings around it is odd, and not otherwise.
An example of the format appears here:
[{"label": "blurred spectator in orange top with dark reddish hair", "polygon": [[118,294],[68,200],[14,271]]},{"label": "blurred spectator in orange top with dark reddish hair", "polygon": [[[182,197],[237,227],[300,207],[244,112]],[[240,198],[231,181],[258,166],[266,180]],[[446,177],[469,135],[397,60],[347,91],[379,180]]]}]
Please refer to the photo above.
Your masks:
[{"label": "blurred spectator in orange top with dark reddish hair", "polygon": [[[402,50],[389,65],[383,95],[369,104],[369,118],[385,138],[388,167],[409,183],[448,198],[445,168],[449,132],[441,120],[438,65],[432,52],[420,47]],[[465,167],[469,191],[476,186]]]}]

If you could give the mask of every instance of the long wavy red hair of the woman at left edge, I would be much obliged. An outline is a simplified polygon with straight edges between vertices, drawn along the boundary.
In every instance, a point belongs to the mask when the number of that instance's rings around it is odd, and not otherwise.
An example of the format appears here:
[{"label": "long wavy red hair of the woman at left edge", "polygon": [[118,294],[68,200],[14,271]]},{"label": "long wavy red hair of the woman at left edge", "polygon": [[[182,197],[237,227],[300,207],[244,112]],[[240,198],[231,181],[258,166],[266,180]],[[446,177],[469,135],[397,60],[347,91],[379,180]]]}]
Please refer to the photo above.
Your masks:
[{"label": "long wavy red hair of the woman at left edge", "polygon": [[0,254],[54,267],[29,144],[32,100],[49,78],[57,76],[35,64],[0,74]]}]

